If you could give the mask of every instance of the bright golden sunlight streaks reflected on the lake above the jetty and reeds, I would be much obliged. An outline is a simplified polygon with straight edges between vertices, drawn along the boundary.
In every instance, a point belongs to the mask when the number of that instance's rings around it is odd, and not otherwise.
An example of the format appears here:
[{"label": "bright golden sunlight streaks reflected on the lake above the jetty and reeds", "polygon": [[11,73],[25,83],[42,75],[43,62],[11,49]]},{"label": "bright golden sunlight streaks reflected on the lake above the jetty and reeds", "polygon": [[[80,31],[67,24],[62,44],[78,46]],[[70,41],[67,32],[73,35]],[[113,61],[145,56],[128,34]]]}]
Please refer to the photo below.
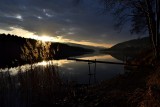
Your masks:
[{"label": "bright golden sunlight streaks reflected on the lake above the jetty and reeds", "polygon": [[[79,58],[82,58],[82,59],[89,59],[89,60],[94,60],[94,59],[97,59],[97,60],[112,60],[112,61],[118,61],[116,60],[115,58],[113,58],[112,56],[110,55],[95,55],[95,56],[83,56],[83,57],[79,57]],[[59,66],[59,67],[67,67],[68,65],[67,64],[71,64],[71,63],[75,63],[75,61],[71,61],[71,60],[49,60],[49,61],[42,61],[42,62],[38,62],[38,63],[34,63],[32,65],[32,69],[35,69],[36,67],[46,67],[46,66],[51,66],[51,65],[54,65],[54,66]],[[13,68],[5,68],[5,69],[0,69],[0,72],[7,72],[9,71],[11,75],[16,75],[19,71],[21,72],[26,72],[28,70],[31,69],[31,65],[30,64],[26,64],[26,65],[22,65],[22,66],[19,66],[19,67],[13,67]],[[71,70],[71,69],[70,69]]]}]

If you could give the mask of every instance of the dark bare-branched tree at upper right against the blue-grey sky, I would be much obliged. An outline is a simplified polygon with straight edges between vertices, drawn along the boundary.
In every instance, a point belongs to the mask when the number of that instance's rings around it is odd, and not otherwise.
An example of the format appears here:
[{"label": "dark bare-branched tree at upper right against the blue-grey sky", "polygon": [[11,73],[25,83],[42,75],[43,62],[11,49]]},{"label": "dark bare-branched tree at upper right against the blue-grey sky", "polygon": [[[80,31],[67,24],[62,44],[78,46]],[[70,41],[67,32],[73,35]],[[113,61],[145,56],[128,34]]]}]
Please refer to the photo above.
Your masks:
[{"label": "dark bare-branched tree at upper right against the blue-grey sky", "polygon": [[102,0],[117,17],[117,27],[129,21],[131,33],[149,34],[155,58],[159,58],[159,0]]}]

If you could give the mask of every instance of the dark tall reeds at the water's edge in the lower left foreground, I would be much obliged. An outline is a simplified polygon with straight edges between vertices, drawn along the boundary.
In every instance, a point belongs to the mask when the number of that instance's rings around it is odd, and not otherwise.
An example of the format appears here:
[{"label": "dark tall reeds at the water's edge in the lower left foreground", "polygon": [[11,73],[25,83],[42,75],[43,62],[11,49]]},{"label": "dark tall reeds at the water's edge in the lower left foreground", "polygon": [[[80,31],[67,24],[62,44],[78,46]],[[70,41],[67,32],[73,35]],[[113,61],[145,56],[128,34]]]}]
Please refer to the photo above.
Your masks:
[{"label": "dark tall reeds at the water's edge in the lower left foreground", "polygon": [[17,75],[0,73],[1,107],[48,107],[65,104],[72,89],[64,85],[54,66],[37,67]]}]

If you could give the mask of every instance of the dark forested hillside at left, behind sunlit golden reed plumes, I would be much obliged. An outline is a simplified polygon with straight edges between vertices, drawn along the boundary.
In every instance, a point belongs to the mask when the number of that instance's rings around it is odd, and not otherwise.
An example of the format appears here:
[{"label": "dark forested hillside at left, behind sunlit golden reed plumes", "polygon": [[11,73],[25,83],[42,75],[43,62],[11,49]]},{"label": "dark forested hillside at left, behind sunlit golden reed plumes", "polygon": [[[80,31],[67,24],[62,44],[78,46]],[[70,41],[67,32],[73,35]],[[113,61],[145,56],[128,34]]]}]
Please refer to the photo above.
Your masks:
[{"label": "dark forested hillside at left, behind sunlit golden reed plumes", "polygon": [[63,59],[93,50],[62,43],[43,42],[0,34],[0,67],[17,66],[48,59]]}]

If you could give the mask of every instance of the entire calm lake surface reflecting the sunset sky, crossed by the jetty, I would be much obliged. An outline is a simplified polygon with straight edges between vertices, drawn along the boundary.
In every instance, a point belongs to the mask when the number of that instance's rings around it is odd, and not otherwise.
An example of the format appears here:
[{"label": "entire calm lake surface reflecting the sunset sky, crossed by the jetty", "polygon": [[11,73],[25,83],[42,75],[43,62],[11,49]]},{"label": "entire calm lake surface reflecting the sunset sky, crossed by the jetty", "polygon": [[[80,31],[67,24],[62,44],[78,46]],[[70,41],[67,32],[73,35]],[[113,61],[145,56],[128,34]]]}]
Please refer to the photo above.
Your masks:
[{"label": "entire calm lake surface reflecting the sunset sky, crossed by the jetty", "polygon": [[[83,56],[79,57],[86,60],[98,60],[98,61],[116,61],[120,62],[119,60],[113,58],[110,55],[98,55],[98,56]],[[39,66],[47,66],[47,65],[56,65],[58,66],[59,74],[62,79],[68,81],[77,81],[78,83],[88,83],[89,81],[89,66],[87,62],[76,62],[70,60],[51,60],[51,61],[42,61],[39,63],[35,63],[32,65],[32,68]],[[91,64],[91,73],[94,72],[95,64]],[[9,71],[12,75],[16,75],[19,70],[21,72],[25,72],[31,69],[30,64],[22,65],[19,67],[13,68],[6,68],[0,69],[1,72]],[[100,64],[97,63],[96,67],[96,79],[98,81],[105,80],[112,78],[113,76],[123,73],[123,66],[122,65],[111,65],[111,64]],[[91,82],[93,82],[93,76],[90,77]]]}]

